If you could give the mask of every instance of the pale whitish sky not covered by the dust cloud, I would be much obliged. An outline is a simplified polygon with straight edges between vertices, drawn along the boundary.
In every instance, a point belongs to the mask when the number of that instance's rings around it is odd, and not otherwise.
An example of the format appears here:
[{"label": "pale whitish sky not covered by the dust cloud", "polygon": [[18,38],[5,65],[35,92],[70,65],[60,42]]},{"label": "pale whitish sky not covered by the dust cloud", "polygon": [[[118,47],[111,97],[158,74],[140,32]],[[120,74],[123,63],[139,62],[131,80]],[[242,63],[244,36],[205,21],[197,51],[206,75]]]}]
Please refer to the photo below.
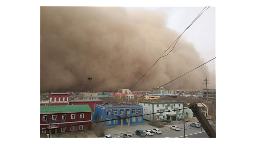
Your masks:
[{"label": "pale whitish sky not covered by the dust cloud", "polygon": [[[129,9],[146,9],[163,11],[168,16],[167,27],[180,34],[190,25],[204,7],[126,7]],[[189,29],[182,35],[198,50],[200,57],[206,61],[216,56],[216,7],[209,7]],[[181,40],[181,39],[180,39]],[[180,41],[179,40],[179,41]],[[179,43],[178,41],[178,43]],[[173,42],[170,42],[170,45]],[[172,47],[171,47],[172,48]],[[175,50],[175,48],[174,48]],[[216,70],[216,60],[206,64],[210,71]]]}]

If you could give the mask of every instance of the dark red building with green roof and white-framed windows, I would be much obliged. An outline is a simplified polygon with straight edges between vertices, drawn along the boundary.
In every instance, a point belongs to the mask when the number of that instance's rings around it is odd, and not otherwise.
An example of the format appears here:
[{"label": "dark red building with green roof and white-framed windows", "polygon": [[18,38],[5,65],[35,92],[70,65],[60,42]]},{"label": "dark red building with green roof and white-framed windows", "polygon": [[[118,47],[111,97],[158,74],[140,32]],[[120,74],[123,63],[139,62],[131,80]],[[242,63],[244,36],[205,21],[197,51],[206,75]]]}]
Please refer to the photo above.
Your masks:
[{"label": "dark red building with green roof and white-framed windows", "polygon": [[89,105],[40,106],[40,134],[90,130],[90,122]]}]

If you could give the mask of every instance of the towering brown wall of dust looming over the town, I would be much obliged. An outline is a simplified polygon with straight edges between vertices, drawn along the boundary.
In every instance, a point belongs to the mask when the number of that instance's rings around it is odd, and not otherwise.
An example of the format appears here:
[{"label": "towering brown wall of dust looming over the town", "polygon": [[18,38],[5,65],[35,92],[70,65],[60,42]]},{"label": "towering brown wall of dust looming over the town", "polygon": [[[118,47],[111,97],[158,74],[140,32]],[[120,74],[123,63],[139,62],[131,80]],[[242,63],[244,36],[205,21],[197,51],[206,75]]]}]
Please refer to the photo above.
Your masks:
[{"label": "towering brown wall of dust looming over the town", "polygon": [[[160,11],[122,7],[41,7],[40,91],[131,88],[179,36],[166,20]],[[193,45],[180,38],[132,91],[151,90],[203,63]],[[211,79],[207,66],[165,88],[202,90],[205,74]]]}]

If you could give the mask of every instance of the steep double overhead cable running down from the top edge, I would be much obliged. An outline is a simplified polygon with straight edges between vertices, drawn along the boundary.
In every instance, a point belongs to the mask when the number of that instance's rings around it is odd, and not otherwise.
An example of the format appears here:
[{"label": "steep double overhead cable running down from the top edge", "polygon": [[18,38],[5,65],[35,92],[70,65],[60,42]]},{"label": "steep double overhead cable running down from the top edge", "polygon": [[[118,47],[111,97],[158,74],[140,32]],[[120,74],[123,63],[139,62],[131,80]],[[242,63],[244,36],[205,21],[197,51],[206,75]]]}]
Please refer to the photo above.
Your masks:
[{"label": "steep double overhead cable running down from the top edge", "polygon": [[[209,6],[209,7],[210,7],[210,6]],[[208,7],[208,8],[209,8],[209,7]],[[206,7],[205,7],[205,8],[206,8]],[[204,9],[205,9],[205,8],[204,8]],[[207,9],[208,9],[208,8],[207,8]],[[204,10],[204,9],[199,13],[198,16],[195,17],[195,19],[193,20],[193,22],[183,31],[183,33],[186,32],[187,29],[195,22],[195,20],[198,19],[198,18],[207,10],[207,9],[206,9],[206,10]],[[180,37],[183,35],[183,33],[182,33],[177,39],[175,39],[174,42],[176,41],[176,43],[177,43],[178,40],[180,39]],[[174,42],[170,45],[170,47],[174,44]],[[175,45],[176,45],[176,43],[175,43]],[[175,47],[175,45],[173,46],[173,48]],[[169,48],[170,48],[170,47],[169,47]],[[168,49],[169,49],[169,48],[168,48]],[[173,50],[173,48],[172,48],[172,50]],[[167,49],[167,50],[168,50],[168,49]],[[167,50],[166,50],[166,51],[167,51]],[[171,50],[171,51],[172,51],[172,50]],[[165,52],[166,52],[166,51],[165,51]],[[170,51],[170,52],[171,52],[171,51]],[[165,52],[164,52],[164,53],[165,53]],[[170,52],[169,52],[168,54],[170,54]],[[157,63],[157,61],[158,61],[160,58],[165,57],[165,56],[168,55],[168,54],[167,54],[167,55],[163,56],[164,53],[155,61],[155,63],[154,63],[154,64],[149,68],[149,70],[137,81],[137,83],[139,83],[139,81],[154,67],[154,65]],[[136,83],[136,84],[137,84],[137,83]],[[135,84],[134,86],[132,86],[132,87],[130,88],[130,90],[131,90],[133,87],[135,87],[136,84]]]}]

